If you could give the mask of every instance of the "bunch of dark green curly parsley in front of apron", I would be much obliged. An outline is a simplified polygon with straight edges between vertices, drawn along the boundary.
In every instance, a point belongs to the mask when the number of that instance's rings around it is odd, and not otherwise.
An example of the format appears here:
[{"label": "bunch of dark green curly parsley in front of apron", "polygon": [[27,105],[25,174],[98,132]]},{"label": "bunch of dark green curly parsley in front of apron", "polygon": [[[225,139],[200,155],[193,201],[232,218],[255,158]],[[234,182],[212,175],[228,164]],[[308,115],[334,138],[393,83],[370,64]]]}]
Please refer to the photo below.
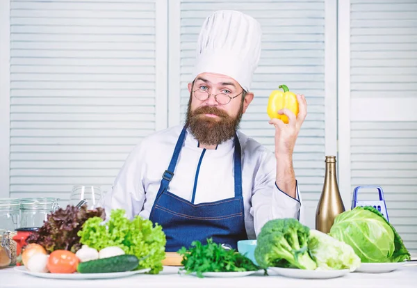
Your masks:
[{"label": "bunch of dark green curly parsley in front of apron", "polygon": [[193,241],[191,247],[181,248],[178,253],[183,257],[181,271],[186,274],[197,273],[197,277],[203,278],[204,272],[245,272],[257,271],[251,259],[247,258],[234,249],[226,250],[221,244],[213,243],[213,239],[207,239],[207,244]]}]

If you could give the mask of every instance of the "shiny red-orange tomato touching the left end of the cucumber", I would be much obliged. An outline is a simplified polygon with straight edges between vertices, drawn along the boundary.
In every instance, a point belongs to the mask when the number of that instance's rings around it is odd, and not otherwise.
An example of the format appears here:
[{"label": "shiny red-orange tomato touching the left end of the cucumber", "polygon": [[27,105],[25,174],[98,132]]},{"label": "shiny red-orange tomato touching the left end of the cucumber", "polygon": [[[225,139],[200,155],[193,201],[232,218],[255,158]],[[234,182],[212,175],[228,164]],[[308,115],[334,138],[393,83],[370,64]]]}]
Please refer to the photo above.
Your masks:
[{"label": "shiny red-orange tomato touching the left end of the cucumber", "polygon": [[74,273],[80,260],[67,250],[55,250],[49,255],[47,267],[51,273]]}]

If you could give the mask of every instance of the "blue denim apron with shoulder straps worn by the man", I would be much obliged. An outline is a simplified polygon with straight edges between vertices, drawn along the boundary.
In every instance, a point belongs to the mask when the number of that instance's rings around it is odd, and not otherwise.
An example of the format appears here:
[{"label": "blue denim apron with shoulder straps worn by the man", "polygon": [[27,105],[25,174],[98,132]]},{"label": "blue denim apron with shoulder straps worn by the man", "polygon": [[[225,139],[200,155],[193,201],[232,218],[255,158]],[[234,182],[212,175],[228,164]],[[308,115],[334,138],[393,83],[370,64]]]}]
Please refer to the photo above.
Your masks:
[{"label": "blue denim apron with shoulder straps worn by the man", "polygon": [[186,127],[181,131],[175,145],[170,166],[163,173],[149,220],[162,226],[167,238],[167,252],[176,252],[183,246],[189,248],[195,240],[206,244],[208,238],[213,238],[215,243],[229,244],[231,248],[237,249],[237,242],[247,239],[238,137],[235,136],[234,139],[234,198],[197,205],[168,191],[185,138]]}]

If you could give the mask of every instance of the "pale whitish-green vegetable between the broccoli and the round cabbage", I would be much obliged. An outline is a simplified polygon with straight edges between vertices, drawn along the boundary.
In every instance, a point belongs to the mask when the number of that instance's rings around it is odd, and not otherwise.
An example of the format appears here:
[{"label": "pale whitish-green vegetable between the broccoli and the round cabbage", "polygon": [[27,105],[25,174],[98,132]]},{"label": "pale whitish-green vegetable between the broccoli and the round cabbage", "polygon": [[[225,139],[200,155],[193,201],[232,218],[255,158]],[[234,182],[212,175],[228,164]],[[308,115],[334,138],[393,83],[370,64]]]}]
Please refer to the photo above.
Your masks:
[{"label": "pale whitish-green vegetable between the broccoli and the round cabbage", "polygon": [[361,259],[352,247],[318,230],[310,230],[309,251],[318,270],[354,271],[361,266]]}]

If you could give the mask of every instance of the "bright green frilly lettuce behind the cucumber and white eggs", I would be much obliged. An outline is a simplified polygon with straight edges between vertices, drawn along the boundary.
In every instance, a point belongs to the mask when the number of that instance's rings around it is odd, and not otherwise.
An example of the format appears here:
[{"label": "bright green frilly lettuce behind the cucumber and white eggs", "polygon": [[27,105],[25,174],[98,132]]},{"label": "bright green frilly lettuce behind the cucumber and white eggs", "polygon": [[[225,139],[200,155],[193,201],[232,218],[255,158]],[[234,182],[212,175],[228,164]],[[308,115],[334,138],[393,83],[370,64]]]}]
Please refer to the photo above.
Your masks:
[{"label": "bright green frilly lettuce behind the cucumber and white eggs", "polygon": [[[109,220],[90,218],[79,231],[81,243],[101,250],[108,246],[117,246],[126,254],[140,259],[136,269],[151,268],[149,273],[158,274],[165,259],[166,237],[162,227],[153,227],[152,221],[135,216],[129,220],[123,209],[113,209]],[[142,259],[143,258],[143,259]]]}]

